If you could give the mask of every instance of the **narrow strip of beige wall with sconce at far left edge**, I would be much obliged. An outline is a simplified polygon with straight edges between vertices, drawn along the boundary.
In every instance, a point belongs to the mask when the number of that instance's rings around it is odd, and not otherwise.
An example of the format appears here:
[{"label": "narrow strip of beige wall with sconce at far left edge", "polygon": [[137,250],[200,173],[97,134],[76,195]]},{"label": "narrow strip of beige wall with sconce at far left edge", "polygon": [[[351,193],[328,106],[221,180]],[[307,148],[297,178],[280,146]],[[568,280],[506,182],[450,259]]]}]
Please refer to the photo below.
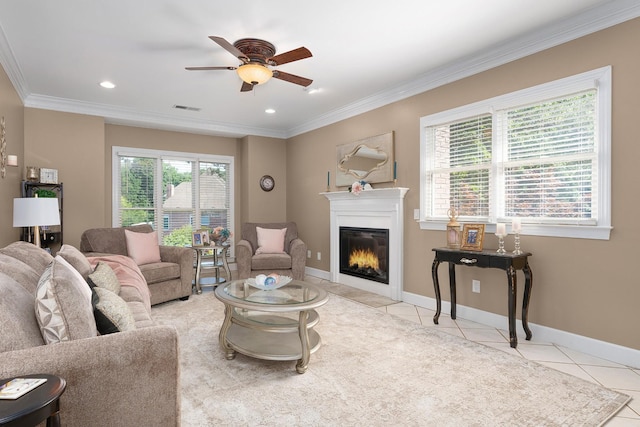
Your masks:
[{"label": "narrow strip of beige wall with sconce at far left edge", "polygon": [[20,181],[24,171],[24,108],[11,81],[0,67],[0,117],[5,121],[7,154],[18,156],[18,167],[7,167],[0,178],[0,247],[20,238],[13,228],[13,199],[20,197]]}]

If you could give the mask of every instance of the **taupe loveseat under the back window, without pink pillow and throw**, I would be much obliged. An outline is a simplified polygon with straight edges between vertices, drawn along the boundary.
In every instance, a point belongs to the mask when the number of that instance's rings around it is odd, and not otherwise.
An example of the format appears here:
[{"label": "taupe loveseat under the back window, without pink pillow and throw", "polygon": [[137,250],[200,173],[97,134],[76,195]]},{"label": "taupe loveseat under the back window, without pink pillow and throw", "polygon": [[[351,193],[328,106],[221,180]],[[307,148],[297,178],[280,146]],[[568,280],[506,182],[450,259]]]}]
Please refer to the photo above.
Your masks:
[{"label": "taupe loveseat under the back window, without pink pillow and throw", "polygon": [[[150,225],[92,228],[82,233],[80,251],[86,256],[130,256],[125,230],[134,233],[154,233]],[[176,246],[159,246],[160,260],[140,264],[151,292],[151,305],[177,298],[187,299],[193,285],[193,251]]]}]

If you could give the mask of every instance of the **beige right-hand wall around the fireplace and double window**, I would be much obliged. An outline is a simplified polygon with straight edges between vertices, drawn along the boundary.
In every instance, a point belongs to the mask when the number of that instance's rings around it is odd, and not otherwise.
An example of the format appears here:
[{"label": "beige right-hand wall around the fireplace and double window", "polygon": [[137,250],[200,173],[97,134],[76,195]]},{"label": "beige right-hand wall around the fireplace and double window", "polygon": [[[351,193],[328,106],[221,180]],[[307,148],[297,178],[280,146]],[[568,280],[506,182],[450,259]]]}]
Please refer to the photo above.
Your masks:
[{"label": "beige right-hand wall around the fireplace and double window", "polygon": [[[307,264],[329,270],[329,203],[318,193],[327,170],[335,170],[336,145],[393,130],[398,186],[405,199],[404,290],[434,297],[430,277],[433,247],[444,232],[423,231],[413,221],[419,207],[419,119],[422,116],[549,82],[606,65],[613,66],[613,226],[611,239],[586,240],[523,236],[533,253],[534,288],[529,310],[533,323],[640,349],[640,279],[633,269],[640,241],[637,212],[637,116],[640,113],[640,19],[583,37],[496,69],[393,103],[366,114],[291,138],[288,144],[287,215],[314,252]],[[513,238],[507,245],[513,245]],[[487,236],[486,247],[497,247]],[[315,260],[321,251],[322,261]],[[448,283],[440,269],[441,283]],[[458,268],[458,303],[507,314],[506,276],[499,270]],[[471,292],[471,280],[482,292]],[[520,275],[520,281],[522,282]],[[519,289],[521,301],[522,288]],[[448,299],[448,291],[443,295]],[[520,305],[520,303],[519,303]]]}]

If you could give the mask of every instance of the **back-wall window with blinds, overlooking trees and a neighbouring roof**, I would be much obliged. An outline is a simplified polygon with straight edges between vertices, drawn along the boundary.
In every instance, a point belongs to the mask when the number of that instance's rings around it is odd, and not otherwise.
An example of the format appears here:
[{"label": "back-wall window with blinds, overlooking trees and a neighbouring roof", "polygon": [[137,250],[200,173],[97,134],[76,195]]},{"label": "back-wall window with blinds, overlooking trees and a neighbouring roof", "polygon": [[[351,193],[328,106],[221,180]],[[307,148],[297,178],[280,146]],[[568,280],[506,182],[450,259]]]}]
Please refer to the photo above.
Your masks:
[{"label": "back-wall window with blinds, overlooking trees and a neighbouring roof", "polygon": [[233,230],[233,157],[113,148],[113,225],[150,224],[185,246],[200,228]]}]

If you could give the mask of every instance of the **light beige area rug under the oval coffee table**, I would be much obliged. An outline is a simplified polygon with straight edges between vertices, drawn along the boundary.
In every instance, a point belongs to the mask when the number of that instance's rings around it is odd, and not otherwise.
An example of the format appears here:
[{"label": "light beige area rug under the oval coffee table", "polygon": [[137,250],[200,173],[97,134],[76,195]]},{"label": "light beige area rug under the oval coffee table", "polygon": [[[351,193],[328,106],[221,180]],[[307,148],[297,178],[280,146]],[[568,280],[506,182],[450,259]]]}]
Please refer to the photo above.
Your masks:
[{"label": "light beige area rug under the oval coffee table", "polygon": [[153,308],[180,336],[183,426],[597,426],[629,400],[330,295],[309,369],[226,360],[213,293]]}]

